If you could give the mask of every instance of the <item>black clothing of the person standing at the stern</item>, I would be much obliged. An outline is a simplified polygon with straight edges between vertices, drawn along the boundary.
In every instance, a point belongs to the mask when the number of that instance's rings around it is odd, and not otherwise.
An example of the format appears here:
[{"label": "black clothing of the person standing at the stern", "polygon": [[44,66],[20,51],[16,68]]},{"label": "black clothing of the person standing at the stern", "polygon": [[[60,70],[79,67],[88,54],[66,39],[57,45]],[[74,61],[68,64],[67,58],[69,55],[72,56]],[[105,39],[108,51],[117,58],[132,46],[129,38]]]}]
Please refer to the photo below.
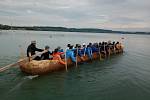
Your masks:
[{"label": "black clothing of the person standing at the stern", "polygon": [[[39,51],[39,52],[42,52],[44,51],[43,49],[38,49],[36,48],[36,46],[34,44],[30,44],[27,48],[27,57],[29,57],[29,52],[31,53],[31,56],[32,55],[35,55],[35,51]],[[34,58],[35,60],[40,60],[40,57],[37,56],[36,58]]]}]

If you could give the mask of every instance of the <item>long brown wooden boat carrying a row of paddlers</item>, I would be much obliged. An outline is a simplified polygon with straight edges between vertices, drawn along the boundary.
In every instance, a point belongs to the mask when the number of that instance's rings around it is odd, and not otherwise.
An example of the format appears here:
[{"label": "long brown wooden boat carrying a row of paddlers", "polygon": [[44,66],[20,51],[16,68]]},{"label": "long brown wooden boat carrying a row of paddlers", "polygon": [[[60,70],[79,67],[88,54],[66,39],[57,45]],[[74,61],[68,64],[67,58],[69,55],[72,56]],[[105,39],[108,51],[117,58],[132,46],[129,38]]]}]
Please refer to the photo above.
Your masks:
[{"label": "long brown wooden boat carrying a row of paddlers", "polygon": [[[111,55],[122,53],[122,51],[123,51],[123,49],[117,50],[115,53],[111,52]],[[105,55],[103,53],[101,53],[101,57],[105,58]],[[93,53],[92,60],[96,60],[96,59],[100,59],[100,53]],[[89,60],[90,59],[88,58],[87,55],[84,56],[84,62],[89,61]],[[77,62],[78,63],[83,62],[83,60],[78,56]],[[73,65],[75,65],[75,64],[70,59],[68,59],[67,60],[68,68]],[[30,62],[27,60],[24,60],[19,63],[19,66],[20,66],[21,71],[31,74],[31,75],[46,74],[46,73],[50,73],[53,71],[65,69],[65,65],[60,64],[59,61],[57,61],[57,60],[40,60],[40,61],[32,60]]]}]

